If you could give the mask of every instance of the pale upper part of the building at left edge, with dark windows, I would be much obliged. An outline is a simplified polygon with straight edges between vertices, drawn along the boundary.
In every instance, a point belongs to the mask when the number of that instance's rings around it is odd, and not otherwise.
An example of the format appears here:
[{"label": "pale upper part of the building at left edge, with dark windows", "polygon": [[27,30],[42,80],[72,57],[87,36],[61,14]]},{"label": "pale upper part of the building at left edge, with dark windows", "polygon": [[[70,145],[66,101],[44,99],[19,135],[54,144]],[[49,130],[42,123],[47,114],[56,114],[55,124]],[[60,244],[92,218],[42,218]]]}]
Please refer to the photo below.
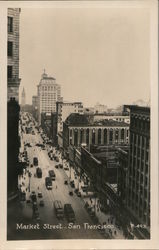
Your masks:
[{"label": "pale upper part of the building at left edge, with dark windows", "polygon": [[8,101],[15,98],[19,102],[19,8],[8,9],[7,80]]}]

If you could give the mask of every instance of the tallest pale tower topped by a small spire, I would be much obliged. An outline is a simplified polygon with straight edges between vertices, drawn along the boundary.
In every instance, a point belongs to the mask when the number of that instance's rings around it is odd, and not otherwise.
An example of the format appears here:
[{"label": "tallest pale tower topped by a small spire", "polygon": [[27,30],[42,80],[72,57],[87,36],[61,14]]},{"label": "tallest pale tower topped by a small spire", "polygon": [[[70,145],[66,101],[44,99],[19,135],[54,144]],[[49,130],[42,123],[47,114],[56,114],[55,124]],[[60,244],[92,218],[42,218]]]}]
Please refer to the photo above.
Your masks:
[{"label": "tallest pale tower topped by a small spire", "polygon": [[38,116],[41,123],[42,113],[56,112],[56,102],[61,101],[61,86],[54,77],[42,74],[38,88]]}]

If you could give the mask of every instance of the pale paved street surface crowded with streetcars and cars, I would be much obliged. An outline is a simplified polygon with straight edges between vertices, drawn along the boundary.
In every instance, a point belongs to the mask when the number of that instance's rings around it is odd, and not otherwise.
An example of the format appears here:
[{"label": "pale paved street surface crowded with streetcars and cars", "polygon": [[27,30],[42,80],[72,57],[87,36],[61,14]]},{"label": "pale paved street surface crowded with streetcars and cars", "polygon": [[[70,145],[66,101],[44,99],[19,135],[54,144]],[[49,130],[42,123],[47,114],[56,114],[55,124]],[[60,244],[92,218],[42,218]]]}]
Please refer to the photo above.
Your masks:
[{"label": "pale paved street surface crowded with streetcars and cars", "polygon": [[[42,138],[40,134],[35,130],[35,135],[32,134],[23,134],[23,139],[21,139],[22,143],[29,142],[32,147],[26,147],[28,152],[28,158],[30,164],[33,163],[33,157],[38,157],[39,167],[42,169],[42,178],[37,178],[34,176],[36,173],[36,167],[29,167],[29,171],[32,173],[32,177],[30,178],[30,191],[35,191],[36,194],[38,192],[42,192],[43,200],[45,203],[44,207],[40,207],[38,205],[39,213],[40,213],[40,226],[43,227],[43,224],[51,224],[58,225],[61,223],[61,229],[48,229],[43,230],[44,234],[40,235],[41,230],[39,231],[39,237],[46,237],[50,239],[103,239],[103,235],[97,231],[96,229],[84,229],[84,223],[93,224],[91,218],[87,211],[84,208],[84,201],[82,198],[77,197],[77,195],[70,196],[69,190],[71,187],[69,185],[64,184],[64,180],[68,179],[68,176],[65,173],[64,169],[56,169],[55,165],[57,164],[55,161],[51,161],[48,157],[47,150],[42,150],[40,147],[35,146],[36,143],[41,142]],[[56,174],[56,180],[53,181],[52,190],[47,190],[45,187],[45,177],[48,176],[48,171],[53,169]],[[21,181],[25,182],[25,188],[29,186],[28,175],[24,175],[25,179],[21,179]],[[27,191],[27,199],[29,198],[30,193]],[[41,198],[37,198],[39,203]],[[75,225],[78,225],[77,228],[68,229],[68,222],[64,218],[63,220],[59,220],[56,218],[55,211],[53,208],[54,200],[61,200],[63,204],[71,203],[72,207],[75,211],[76,222]],[[23,202],[22,205],[23,216],[25,218],[30,219],[32,217],[32,204]],[[34,222],[35,223],[35,222]],[[27,230],[28,231],[28,230]],[[37,233],[37,232],[36,232]],[[38,233],[37,233],[38,235]]]}]

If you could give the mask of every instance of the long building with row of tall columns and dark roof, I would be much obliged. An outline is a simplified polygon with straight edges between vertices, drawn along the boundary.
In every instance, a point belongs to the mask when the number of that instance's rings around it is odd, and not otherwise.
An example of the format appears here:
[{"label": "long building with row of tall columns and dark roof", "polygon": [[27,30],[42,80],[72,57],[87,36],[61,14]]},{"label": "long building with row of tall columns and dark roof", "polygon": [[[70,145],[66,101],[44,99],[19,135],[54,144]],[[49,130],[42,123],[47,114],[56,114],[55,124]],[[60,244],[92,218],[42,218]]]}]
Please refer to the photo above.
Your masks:
[{"label": "long building with row of tall columns and dark roof", "polygon": [[129,144],[129,124],[113,120],[94,122],[90,116],[70,114],[63,123],[63,146]]}]

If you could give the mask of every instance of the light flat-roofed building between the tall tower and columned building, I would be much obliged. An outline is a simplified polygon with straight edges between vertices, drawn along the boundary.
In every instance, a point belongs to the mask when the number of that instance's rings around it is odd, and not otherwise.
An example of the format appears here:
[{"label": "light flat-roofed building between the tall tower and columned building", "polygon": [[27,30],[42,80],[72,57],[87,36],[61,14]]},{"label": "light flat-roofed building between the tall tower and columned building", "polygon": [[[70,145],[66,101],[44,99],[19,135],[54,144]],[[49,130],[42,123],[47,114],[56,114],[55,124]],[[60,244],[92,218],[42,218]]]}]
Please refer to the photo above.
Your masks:
[{"label": "light flat-roofed building between the tall tower and columned building", "polygon": [[71,113],[83,114],[83,104],[82,102],[57,102],[56,104],[57,112],[57,132],[63,131],[63,122]]}]

